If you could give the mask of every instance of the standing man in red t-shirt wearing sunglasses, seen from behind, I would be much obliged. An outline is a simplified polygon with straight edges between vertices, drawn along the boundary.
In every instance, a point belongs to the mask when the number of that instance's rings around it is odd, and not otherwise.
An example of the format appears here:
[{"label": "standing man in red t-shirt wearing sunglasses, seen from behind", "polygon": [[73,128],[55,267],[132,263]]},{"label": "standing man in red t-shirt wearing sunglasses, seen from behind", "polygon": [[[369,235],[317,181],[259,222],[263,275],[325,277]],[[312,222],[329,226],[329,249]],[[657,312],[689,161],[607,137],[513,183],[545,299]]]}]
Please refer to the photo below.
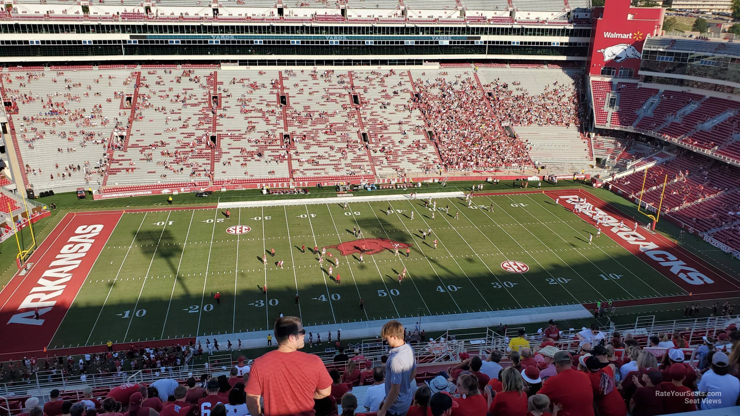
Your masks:
[{"label": "standing man in red t-shirt wearing sunglasses, seen from behind", "polygon": [[306,336],[299,318],[278,318],[274,332],[277,349],[257,358],[249,372],[245,389],[249,413],[313,416],[314,399],[332,392],[332,378],[321,358],[298,351]]}]

